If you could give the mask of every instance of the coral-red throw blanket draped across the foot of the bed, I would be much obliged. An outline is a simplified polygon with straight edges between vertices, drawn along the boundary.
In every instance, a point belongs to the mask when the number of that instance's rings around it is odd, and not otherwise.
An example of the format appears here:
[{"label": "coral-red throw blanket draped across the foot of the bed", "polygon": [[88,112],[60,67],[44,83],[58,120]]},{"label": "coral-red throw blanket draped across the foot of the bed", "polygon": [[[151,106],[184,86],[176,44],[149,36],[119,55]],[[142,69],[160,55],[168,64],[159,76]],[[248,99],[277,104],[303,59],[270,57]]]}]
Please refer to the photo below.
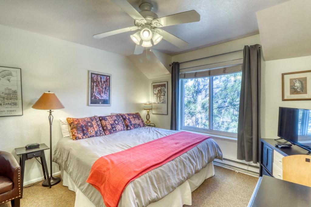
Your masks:
[{"label": "coral-red throw blanket draped across the foot of the bed", "polygon": [[128,183],[208,138],[201,134],[179,132],[102,156],[93,164],[86,182],[100,191],[107,207],[117,207]]}]

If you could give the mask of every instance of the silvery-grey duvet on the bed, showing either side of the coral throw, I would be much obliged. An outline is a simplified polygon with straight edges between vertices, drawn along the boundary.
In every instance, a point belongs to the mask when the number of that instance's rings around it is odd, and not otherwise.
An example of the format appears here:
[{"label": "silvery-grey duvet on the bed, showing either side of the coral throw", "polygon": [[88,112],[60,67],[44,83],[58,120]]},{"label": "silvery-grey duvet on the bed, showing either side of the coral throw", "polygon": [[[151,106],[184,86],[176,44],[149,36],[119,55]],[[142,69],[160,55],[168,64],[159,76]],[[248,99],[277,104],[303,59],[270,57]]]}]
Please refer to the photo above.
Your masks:
[{"label": "silvery-grey duvet on the bed, showing either side of the coral throw", "polygon": [[[101,156],[173,133],[177,131],[142,127],[81,140],[64,137],[56,145],[53,161],[68,173],[79,191],[95,206],[102,207],[104,203],[99,191],[86,182],[93,163]],[[125,191],[131,195],[122,196],[119,206],[123,206],[125,197],[129,199],[126,203],[131,203],[131,206],[144,207],[154,203],[174,191],[214,159],[222,159],[222,153],[214,140],[207,139],[174,160],[130,182]]]}]

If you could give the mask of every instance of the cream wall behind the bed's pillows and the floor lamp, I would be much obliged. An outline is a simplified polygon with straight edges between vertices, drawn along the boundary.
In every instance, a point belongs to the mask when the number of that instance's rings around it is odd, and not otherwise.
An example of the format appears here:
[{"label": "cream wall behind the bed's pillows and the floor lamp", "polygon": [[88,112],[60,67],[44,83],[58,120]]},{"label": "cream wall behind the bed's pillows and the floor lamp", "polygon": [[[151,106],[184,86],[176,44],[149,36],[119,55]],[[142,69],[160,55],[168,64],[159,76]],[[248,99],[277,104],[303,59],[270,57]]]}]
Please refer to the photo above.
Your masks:
[{"label": "cream wall behind the bed's pillows and the floor lamp", "polygon": [[[61,138],[58,118],[142,113],[142,103],[149,101],[149,80],[126,56],[3,25],[0,66],[21,68],[24,115],[0,117],[0,150],[13,154],[29,143],[49,146],[48,112],[31,108],[45,91],[55,92],[65,106],[53,112],[53,146]],[[112,74],[112,106],[87,106],[88,70]],[[53,172],[58,171],[53,163]],[[38,162],[27,160],[24,180],[41,176]]]}]

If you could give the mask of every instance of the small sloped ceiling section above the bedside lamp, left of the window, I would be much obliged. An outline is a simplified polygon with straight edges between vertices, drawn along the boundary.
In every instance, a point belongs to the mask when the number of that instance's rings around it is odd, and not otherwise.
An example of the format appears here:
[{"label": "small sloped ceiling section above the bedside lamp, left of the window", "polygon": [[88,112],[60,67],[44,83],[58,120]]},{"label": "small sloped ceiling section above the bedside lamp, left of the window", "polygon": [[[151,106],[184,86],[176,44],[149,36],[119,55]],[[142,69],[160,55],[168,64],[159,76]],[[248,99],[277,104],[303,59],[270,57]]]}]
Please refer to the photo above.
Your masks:
[{"label": "small sloped ceiling section above the bedside lamp, left of the window", "polygon": [[147,49],[140,55],[130,55],[128,58],[148,79],[170,75],[169,64],[172,59],[169,55]]}]

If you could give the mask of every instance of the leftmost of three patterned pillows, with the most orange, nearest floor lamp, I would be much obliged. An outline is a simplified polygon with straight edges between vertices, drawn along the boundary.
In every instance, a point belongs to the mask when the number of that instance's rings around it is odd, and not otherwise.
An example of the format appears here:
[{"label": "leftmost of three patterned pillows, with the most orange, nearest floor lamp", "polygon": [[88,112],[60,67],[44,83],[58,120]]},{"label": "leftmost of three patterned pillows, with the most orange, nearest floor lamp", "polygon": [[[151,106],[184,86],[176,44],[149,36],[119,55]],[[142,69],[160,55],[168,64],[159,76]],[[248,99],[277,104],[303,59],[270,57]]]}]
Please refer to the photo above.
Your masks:
[{"label": "leftmost of three patterned pillows, with the most orange, nearest floor lamp", "polygon": [[73,140],[104,136],[98,116],[67,118]]}]

